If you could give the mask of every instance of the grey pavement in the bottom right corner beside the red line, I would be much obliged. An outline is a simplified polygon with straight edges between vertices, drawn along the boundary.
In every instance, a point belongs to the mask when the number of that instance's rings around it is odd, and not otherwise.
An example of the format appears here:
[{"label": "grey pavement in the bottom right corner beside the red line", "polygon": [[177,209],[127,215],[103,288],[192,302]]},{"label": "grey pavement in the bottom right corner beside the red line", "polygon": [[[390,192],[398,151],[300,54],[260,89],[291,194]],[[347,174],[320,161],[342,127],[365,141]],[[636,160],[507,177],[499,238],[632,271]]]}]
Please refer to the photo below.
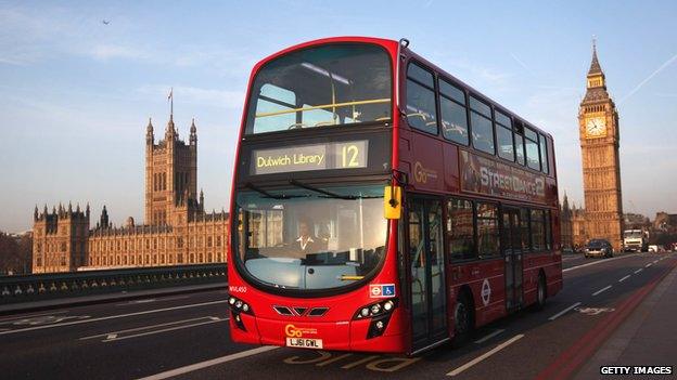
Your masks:
[{"label": "grey pavement in the bottom right corner beside the red line", "polygon": [[601,366],[673,366],[677,370],[676,315],[677,267],[604,342],[576,379],[604,377]]}]

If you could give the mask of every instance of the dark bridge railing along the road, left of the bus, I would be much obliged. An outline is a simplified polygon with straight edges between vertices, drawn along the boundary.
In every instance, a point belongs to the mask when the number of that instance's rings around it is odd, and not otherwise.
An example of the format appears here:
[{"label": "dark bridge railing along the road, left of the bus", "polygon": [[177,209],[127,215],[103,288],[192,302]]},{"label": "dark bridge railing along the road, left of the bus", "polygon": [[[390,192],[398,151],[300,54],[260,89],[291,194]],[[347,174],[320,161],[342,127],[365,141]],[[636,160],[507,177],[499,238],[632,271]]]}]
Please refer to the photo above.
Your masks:
[{"label": "dark bridge railing along the road, left of the bus", "polygon": [[0,304],[226,280],[225,263],[3,276]]}]

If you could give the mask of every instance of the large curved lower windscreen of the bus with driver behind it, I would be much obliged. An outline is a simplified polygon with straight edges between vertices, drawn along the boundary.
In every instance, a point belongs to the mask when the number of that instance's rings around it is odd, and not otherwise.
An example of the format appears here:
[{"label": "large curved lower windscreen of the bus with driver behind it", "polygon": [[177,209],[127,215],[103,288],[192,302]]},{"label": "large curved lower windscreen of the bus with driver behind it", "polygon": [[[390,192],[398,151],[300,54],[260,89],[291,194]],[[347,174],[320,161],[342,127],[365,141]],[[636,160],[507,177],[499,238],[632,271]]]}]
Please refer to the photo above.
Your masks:
[{"label": "large curved lower windscreen of the bus with driver behind it", "polygon": [[279,289],[368,279],[385,254],[383,186],[253,187],[237,197],[240,267]]}]

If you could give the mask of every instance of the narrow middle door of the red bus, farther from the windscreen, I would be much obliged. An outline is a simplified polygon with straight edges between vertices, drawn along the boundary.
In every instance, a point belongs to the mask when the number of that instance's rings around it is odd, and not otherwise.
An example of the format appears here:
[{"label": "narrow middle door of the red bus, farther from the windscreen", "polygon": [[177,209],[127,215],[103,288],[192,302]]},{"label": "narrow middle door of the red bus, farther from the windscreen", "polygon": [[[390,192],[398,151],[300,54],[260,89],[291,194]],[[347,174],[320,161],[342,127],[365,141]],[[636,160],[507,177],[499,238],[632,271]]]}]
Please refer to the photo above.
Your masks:
[{"label": "narrow middle door of the red bus, farther from the windscreen", "polygon": [[506,261],[506,309],[510,312],[520,309],[523,302],[520,209],[503,207],[501,217],[501,247]]}]

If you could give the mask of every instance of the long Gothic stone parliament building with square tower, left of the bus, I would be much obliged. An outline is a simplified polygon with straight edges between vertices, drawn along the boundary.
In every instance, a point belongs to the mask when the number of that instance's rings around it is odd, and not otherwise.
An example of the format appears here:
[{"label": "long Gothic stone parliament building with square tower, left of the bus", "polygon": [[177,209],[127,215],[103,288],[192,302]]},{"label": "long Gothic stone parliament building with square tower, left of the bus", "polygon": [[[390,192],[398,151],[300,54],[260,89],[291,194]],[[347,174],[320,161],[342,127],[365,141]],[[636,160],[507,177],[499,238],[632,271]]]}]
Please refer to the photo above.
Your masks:
[{"label": "long Gothic stone parliament building with square tower, left of the bus", "polygon": [[197,194],[197,130],[179,139],[174,115],[155,144],[151,120],[145,131],[144,223],[130,217],[115,227],[103,207],[91,228],[89,205],[60,205],[34,212],[33,273],[84,268],[162,266],[225,262],[228,214],[206,212]]}]

